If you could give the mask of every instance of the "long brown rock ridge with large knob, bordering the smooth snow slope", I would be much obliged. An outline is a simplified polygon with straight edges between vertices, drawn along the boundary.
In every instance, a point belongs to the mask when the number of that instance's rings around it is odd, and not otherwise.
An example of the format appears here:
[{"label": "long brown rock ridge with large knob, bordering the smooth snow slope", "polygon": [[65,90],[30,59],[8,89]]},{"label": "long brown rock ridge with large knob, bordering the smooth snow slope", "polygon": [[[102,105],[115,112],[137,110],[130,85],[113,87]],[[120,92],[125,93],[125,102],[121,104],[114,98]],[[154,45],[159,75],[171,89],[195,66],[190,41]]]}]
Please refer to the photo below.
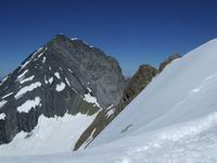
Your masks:
[{"label": "long brown rock ridge with large knob, bordering the smooth snow slope", "polygon": [[81,135],[74,150],[87,147],[148,86],[156,74],[157,70],[155,67],[148,64],[141,65],[125,87],[120,102],[98,114],[92,124]]}]

